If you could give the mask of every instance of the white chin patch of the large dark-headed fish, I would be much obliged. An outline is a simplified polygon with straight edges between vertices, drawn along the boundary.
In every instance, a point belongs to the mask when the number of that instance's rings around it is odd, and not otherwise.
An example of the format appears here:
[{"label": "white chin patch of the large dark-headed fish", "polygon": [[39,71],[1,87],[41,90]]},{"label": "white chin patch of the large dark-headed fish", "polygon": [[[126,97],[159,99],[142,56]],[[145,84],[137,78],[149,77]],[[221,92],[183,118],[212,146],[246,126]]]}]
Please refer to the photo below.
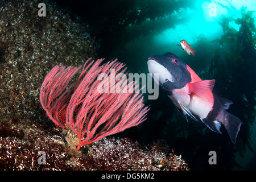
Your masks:
[{"label": "white chin patch of the large dark-headed fish", "polygon": [[[173,82],[170,72],[166,68],[164,68],[161,64],[156,62],[155,60],[152,60],[152,59],[148,60],[147,67],[148,67],[148,72],[150,72],[152,74],[152,76],[156,82],[159,81],[161,84],[163,84],[164,82],[167,81],[166,79]],[[158,80],[157,80],[157,76],[155,76],[155,74],[158,74]]]}]

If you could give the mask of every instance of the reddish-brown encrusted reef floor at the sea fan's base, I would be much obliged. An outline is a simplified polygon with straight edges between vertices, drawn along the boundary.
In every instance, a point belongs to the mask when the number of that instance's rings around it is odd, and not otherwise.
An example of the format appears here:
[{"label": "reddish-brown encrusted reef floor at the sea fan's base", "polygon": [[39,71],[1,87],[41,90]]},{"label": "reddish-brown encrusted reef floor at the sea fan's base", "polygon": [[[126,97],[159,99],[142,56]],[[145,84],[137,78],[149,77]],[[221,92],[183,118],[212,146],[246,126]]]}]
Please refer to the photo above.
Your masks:
[{"label": "reddish-brown encrusted reef floor at the sea fan's base", "polygon": [[161,142],[142,147],[129,138],[108,137],[77,152],[72,132],[25,118],[2,122],[0,170],[189,170],[181,156],[168,154]]}]

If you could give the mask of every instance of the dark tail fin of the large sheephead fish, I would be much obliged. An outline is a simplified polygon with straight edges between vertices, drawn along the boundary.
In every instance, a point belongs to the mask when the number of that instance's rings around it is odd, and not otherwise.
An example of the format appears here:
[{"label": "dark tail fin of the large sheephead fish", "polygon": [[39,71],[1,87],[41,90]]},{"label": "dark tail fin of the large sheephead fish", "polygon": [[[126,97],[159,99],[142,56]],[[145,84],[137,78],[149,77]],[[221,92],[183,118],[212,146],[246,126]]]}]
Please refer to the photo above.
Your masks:
[{"label": "dark tail fin of the large sheephead fish", "polygon": [[230,113],[227,113],[225,118],[226,121],[223,123],[223,125],[228,131],[232,142],[236,144],[237,135],[243,122],[238,117]]}]

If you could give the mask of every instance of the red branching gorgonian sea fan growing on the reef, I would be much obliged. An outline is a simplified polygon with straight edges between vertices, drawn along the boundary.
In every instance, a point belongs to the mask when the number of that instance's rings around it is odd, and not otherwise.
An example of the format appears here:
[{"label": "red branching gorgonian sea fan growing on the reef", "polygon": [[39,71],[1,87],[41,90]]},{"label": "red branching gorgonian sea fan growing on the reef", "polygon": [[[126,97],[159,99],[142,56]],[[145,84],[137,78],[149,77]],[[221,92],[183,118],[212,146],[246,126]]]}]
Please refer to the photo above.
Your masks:
[{"label": "red branching gorgonian sea fan growing on the reef", "polygon": [[89,60],[76,86],[69,81],[81,67],[56,65],[40,90],[40,102],[56,127],[68,126],[77,134],[77,150],[84,144],[139,125],[146,120],[149,110],[144,107],[142,94],[135,93],[135,82],[128,83],[126,77],[115,78],[126,76],[124,64],[115,60],[100,65],[104,59],[90,63]]}]

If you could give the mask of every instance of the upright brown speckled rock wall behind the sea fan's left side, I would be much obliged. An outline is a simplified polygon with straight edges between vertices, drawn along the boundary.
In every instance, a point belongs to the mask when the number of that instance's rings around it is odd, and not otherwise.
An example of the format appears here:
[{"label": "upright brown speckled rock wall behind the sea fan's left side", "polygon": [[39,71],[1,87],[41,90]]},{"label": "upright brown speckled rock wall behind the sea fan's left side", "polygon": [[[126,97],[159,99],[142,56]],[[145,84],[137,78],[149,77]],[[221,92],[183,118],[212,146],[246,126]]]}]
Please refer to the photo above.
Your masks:
[{"label": "upright brown speckled rock wall behind the sea fan's left side", "polygon": [[4,1],[0,9],[0,115],[40,117],[40,85],[56,64],[79,66],[96,55],[88,24],[51,2]]}]

